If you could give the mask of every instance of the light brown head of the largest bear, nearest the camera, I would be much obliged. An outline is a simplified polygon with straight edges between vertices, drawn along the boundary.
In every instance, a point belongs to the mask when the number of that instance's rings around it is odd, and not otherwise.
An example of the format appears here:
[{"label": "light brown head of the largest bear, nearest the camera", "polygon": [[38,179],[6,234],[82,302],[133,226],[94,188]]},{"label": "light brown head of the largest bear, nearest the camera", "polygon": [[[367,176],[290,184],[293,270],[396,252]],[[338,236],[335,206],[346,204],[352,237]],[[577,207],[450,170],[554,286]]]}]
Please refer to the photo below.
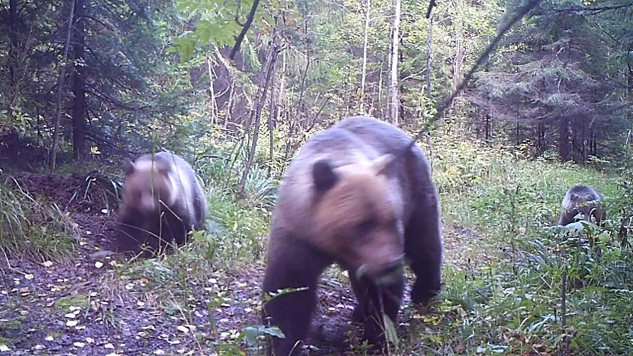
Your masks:
[{"label": "light brown head of the largest bear, nearest the camera", "polygon": [[390,283],[402,275],[404,236],[399,189],[385,174],[394,156],[312,167],[312,236],[358,277]]}]

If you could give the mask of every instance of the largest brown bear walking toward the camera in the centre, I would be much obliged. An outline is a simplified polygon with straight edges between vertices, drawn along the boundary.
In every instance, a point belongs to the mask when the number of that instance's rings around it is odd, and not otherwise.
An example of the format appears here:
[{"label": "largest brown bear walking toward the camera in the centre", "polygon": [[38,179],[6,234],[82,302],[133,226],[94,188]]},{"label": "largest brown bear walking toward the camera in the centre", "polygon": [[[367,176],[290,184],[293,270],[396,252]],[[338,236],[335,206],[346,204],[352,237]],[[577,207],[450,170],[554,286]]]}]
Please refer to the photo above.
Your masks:
[{"label": "largest brown bear walking toward the camera in the centre", "polygon": [[375,346],[385,345],[380,305],[398,323],[404,258],[417,276],[412,302],[439,293],[437,189],[422,150],[406,149],[410,142],[391,124],[356,116],[311,137],[293,158],[273,212],[263,291],[307,289],[263,306],[264,322],[285,334],[272,340],[275,355],[300,349],[320,274],[334,262],[349,271],[358,300],[353,317]]}]

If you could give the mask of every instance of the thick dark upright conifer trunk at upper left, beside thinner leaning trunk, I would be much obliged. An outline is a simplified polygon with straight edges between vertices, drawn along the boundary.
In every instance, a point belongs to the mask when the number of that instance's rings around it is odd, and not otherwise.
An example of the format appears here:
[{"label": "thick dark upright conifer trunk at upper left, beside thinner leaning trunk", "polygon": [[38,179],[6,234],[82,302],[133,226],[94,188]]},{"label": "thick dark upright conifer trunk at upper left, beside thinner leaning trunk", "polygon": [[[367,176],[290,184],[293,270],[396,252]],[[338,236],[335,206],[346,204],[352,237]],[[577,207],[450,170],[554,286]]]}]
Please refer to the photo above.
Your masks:
[{"label": "thick dark upright conifer trunk at upper left, beside thinner leaning trunk", "polygon": [[86,154],[85,150],[85,2],[88,0],[75,0],[77,25],[75,26],[75,75],[73,78],[73,155],[75,160],[81,160]]}]

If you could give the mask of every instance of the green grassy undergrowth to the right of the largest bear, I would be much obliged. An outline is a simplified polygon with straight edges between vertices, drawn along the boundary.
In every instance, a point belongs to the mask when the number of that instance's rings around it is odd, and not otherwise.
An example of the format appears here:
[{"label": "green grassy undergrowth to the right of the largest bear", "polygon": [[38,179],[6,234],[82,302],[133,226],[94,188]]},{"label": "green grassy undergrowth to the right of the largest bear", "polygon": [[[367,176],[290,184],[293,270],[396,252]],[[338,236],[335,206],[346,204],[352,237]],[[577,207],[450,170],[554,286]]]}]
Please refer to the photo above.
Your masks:
[{"label": "green grassy undergrowth to the right of the largest bear", "polygon": [[[619,207],[630,204],[630,197],[618,190],[620,178],[520,159],[519,153],[458,137],[433,140],[444,219],[477,226],[494,236],[503,252],[499,263],[446,269],[441,304],[427,317],[437,319],[441,329],[429,341],[437,347],[449,343],[455,350],[517,355],[555,352],[569,334],[574,352],[626,353],[627,315],[633,309],[624,301],[633,290],[633,265],[632,251],[618,240]],[[606,228],[580,222],[548,229],[556,224],[566,190],[579,183],[605,194]]]}]

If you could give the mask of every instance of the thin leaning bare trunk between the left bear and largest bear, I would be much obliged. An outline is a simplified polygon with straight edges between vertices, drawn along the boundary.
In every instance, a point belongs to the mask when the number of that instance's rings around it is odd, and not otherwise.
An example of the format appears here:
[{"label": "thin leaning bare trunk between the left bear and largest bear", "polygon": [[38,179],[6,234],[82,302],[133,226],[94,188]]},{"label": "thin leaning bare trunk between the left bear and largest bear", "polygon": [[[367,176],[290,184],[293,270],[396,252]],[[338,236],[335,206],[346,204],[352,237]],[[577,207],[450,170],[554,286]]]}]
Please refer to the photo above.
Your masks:
[{"label": "thin leaning bare trunk between the left bear and largest bear", "polygon": [[[271,37],[270,53],[268,53],[265,64],[263,65],[263,67],[261,67],[260,75],[258,75],[258,82],[260,86],[257,93],[257,101],[255,103],[254,112],[253,110],[251,110],[251,117],[254,117],[255,124],[253,129],[253,142],[251,143],[251,149],[248,152],[248,161],[246,162],[246,166],[244,167],[242,178],[237,185],[237,192],[242,196],[244,196],[244,186],[246,185],[246,178],[248,177],[248,173],[251,170],[251,165],[253,165],[255,149],[257,148],[257,140],[260,134],[261,110],[263,109],[264,103],[266,101],[268,83],[270,82],[270,77],[272,76],[273,67],[275,67],[275,61],[277,61],[277,54],[279,54],[279,42],[277,41],[276,30],[273,30]],[[253,122],[253,119],[251,119],[251,122]]]}]

